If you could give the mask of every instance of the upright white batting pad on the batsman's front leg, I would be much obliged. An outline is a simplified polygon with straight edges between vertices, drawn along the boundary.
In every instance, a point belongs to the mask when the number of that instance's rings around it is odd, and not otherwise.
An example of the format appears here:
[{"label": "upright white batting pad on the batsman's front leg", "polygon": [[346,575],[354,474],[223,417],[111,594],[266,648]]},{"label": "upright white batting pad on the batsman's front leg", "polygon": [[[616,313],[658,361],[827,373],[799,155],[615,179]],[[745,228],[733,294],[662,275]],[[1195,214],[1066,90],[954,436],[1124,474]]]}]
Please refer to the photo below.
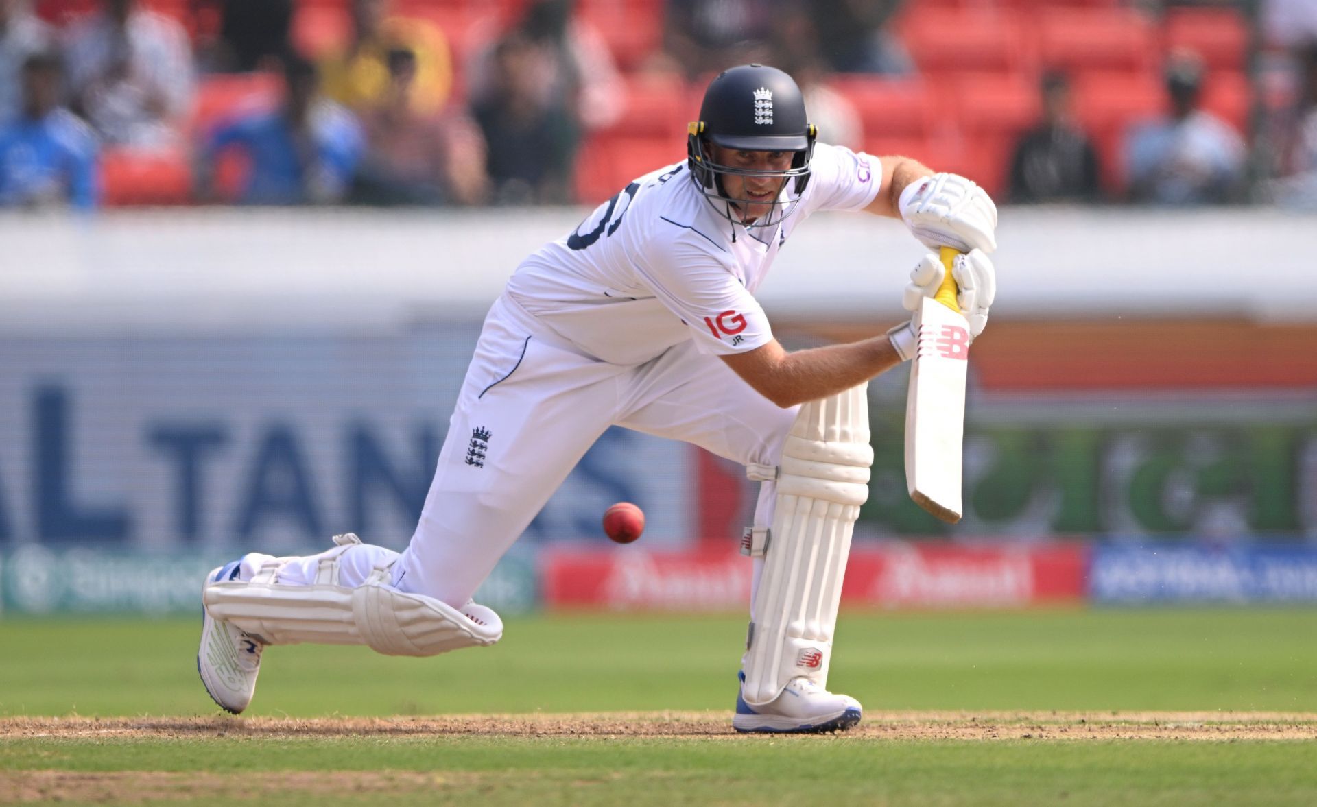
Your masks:
[{"label": "upright white batting pad on the batsman's front leg", "polygon": [[747,703],[772,702],[793,678],[827,685],[851,532],[869,498],[867,390],[802,405],[786,437],[745,653]]}]

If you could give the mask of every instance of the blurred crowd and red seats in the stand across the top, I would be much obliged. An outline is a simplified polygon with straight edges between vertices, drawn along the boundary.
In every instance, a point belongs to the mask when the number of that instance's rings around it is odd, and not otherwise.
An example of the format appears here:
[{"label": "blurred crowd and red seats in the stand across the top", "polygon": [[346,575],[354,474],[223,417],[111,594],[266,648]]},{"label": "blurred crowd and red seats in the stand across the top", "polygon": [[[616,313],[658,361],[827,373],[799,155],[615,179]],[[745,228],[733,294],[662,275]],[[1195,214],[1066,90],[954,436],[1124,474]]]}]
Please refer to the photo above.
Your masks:
[{"label": "blurred crowd and red seats in the stand across the top", "polygon": [[593,203],[744,62],[1004,201],[1317,209],[1317,0],[0,0],[0,205]]}]

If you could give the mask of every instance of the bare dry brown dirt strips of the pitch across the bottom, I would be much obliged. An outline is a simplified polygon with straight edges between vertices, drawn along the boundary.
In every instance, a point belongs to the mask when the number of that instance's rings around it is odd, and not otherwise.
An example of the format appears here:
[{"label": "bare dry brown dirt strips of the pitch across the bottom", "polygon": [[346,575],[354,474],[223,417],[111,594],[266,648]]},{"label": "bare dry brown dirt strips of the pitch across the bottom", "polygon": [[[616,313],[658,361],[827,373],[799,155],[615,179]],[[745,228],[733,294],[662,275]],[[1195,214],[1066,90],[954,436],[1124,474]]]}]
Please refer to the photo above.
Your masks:
[{"label": "bare dry brown dirt strips of the pitch across the bottom", "polygon": [[[780,736],[743,736],[731,728],[727,712],[612,712],[574,715],[468,715],[437,717],[390,719],[275,719],[275,717],[4,717],[0,719],[0,744],[45,744],[51,741],[87,748],[87,744],[109,742],[133,745],[138,741],[173,746],[192,741],[208,744],[249,741],[279,744],[281,740],[313,740],[335,742],[412,739],[470,739],[475,741],[507,741],[512,744],[586,742],[615,744],[619,739],[636,741],[752,744],[765,750]],[[795,737],[793,742],[832,742],[832,739]],[[1317,741],[1317,714],[1300,712],[877,712],[865,715],[865,723],[842,735],[836,741],[855,746],[872,744],[874,748],[897,748],[915,742],[943,741],[982,742],[982,748],[1008,744],[1048,744],[1062,749],[1085,745],[1098,748],[1126,741],[1160,745],[1192,741],[1193,745],[1241,742],[1271,745],[1268,741]],[[1088,745],[1094,742],[1093,745]],[[1202,746],[1202,745],[1198,745]],[[1238,748],[1238,746],[1233,746]],[[785,750],[785,749],[778,749]],[[557,802],[578,802],[591,787],[620,783],[623,774],[610,773],[605,778],[573,775],[560,783],[568,795]],[[641,778],[640,786],[652,789],[668,786],[670,779],[662,771]],[[458,794],[453,803],[471,796],[490,795],[489,773],[443,770],[266,770],[259,774],[232,777],[209,770],[58,770],[46,768],[29,770],[0,770],[0,804],[29,804],[46,802],[142,804],[194,802],[216,793],[224,794],[223,803],[265,802],[270,798],[296,798],[299,803],[337,804],[344,794],[350,800],[382,800],[389,803],[435,803],[445,794]],[[585,789],[585,790],[582,790]],[[543,793],[532,793],[545,798]],[[964,803],[985,802],[971,794]],[[524,795],[512,795],[498,803],[520,803]],[[636,796],[628,796],[635,800]],[[1297,802],[1304,803],[1300,796]],[[790,802],[792,799],[788,799]],[[901,803],[921,803],[918,796]],[[1027,800],[1027,799],[1026,799]],[[727,803],[755,803],[728,799]],[[961,803],[946,800],[946,803]],[[1205,803],[1213,803],[1209,798]],[[612,791],[605,790],[602,800],[590,803],[616,803]],[[636,802],[640,803],[640,802]],[[644,802],[651,803],[651,802]],[[872,803],[898,803],[897,800]],[[1004,803],[1014,803],[1008,798]],[[1198,803],[1198,802],[1184,802]]]}]

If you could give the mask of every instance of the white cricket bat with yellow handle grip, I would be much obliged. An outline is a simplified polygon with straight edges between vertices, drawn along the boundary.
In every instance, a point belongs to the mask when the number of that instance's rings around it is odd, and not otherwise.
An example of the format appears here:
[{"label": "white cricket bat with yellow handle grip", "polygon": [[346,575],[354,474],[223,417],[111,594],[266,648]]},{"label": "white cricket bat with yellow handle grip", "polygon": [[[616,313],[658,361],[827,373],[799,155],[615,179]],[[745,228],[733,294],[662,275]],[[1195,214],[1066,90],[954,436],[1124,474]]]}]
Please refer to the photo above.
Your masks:
[{"label": "white cricket bat with yellow handle grip", "polygon": [[959,521],[964,512],[960,463],[969,369],[969,323],[956,304],[956,282],[951,276],[957,254],[942,247],[947,276],[936,295],[919,303],[918,349],[906,395],[906,487],[915,504],[948,524]]}]

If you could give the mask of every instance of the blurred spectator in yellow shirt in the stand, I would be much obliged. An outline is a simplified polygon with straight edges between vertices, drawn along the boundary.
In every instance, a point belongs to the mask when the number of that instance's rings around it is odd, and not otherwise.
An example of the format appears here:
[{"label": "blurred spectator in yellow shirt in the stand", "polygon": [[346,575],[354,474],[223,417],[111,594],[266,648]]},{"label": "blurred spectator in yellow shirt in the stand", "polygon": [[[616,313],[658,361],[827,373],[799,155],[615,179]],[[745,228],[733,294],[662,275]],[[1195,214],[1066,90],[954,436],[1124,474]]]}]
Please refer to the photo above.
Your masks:
[{"label": "blurred spectator in yellow shirt in the stand", "polygon": [[412,107],[423,115],[439,112],[453,88],[444,32],[424,20],[391,16],[390,0],[352,0],[349,8],[352,43],[320,65],[325,95],[354,112],[381,103],[391,83],[389,53],[404,47],[416,58]]}]

